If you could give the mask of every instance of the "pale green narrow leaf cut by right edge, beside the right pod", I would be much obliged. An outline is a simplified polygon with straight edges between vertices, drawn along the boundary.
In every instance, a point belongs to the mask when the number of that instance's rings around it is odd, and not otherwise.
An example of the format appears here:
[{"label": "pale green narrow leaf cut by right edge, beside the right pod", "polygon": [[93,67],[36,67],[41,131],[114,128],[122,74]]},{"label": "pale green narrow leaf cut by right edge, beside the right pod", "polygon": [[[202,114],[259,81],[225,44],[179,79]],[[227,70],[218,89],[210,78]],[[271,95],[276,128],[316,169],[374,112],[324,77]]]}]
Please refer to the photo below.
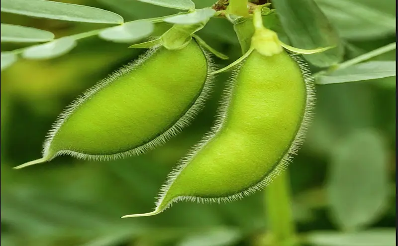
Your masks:
[{"label": "pale green narrow leaf cut by right edge, beside the right pod", "polygon": [[327,85],[396,76],[396,61],[370,61],[321,74],[316,84]]}]

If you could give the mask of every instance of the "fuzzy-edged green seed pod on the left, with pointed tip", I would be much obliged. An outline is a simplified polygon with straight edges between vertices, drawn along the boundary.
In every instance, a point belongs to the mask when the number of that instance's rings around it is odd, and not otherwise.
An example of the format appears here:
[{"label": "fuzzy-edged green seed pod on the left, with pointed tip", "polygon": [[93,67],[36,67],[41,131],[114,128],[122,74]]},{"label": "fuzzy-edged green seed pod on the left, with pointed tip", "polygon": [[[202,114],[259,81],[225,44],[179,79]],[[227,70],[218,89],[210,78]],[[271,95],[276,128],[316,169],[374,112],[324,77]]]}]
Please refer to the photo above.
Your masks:
[{"label": "fuzzy-edged green seed pod on the left, with pointed tip", "polygon": [[61,154],[109,160],[137,155],[176,135],[202,108],[212,61],[193,38],[181,49],[157,45],[68,106],[44,143],[43,158]]}]

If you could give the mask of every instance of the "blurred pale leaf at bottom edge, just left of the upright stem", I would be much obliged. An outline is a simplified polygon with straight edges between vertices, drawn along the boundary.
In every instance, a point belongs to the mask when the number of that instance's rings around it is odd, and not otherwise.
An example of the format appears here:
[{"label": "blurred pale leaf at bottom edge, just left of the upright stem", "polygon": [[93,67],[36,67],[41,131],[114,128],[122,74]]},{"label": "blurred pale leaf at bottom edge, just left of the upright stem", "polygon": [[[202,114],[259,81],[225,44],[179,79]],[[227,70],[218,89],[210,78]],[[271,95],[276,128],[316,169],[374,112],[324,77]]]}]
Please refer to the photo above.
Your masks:
[{"label": "blurred pale leaf at bottom edge, just left of the upright stem", "polygon": [[181,240],[177,246],[230,246],[242,238],[239,230],[216,228]]}]

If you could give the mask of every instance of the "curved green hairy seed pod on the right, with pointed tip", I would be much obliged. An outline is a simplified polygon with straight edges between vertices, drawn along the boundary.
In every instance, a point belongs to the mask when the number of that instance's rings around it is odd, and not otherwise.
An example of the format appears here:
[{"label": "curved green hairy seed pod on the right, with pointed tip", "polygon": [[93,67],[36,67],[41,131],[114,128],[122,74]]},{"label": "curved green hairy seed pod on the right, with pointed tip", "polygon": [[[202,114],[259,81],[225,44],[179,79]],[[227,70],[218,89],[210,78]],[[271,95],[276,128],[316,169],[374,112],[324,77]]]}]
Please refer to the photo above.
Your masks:
[{"label": "curved green hairy seed pod on the right, with pointed tip", "polygon": [[173,202],[231,201],[269,184],[303,141],[314,86],[302,59],[254,50],[225,91],[213,129],[163,186],[155,215]]}]

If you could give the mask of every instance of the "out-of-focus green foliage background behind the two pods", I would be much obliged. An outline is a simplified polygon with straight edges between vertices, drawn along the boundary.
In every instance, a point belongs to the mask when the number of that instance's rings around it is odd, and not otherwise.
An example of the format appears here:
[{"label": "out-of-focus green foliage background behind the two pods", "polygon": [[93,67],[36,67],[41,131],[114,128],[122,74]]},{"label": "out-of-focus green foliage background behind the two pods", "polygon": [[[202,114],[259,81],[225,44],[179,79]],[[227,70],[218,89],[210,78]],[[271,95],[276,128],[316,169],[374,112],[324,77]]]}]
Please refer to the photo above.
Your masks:
[{"label": "out-of-focus green foliage background behind the two pods", "polygon": [[[126,21],[177,12],[135,0],[64,2],[111,10]],[[195,2],[197,8],[213,3]],[[339,2],[354,3],[356,14],[338,8]],[[375,16],[395,18],[394,0],[317,3],[344,39],[346,60],[396,40],[395,29],[378,25],[361,12],[371,9]],[[106,26],[6,13],[1,14],[1,22],[49,30],[56,37]],[[233,27],[225,19],[211,19],[198,34],[230,57],[216,59],[220,67],[241,55]],[[229,73],[217,76],[211,99],[191,126],[145,155],[109,162],[62,156],[26,169],[11,169],[40,157],[47,130],[65,106],[143,52],[127,46],[90,37],[80,40],[67,55],[21,59],[1,72],[1,244],[264,245],[268,227],[264,192],[229,204],[180,202],[157,216],[120,219],[154,207],[168,172],[214,122]],[[19,47],[2,44],[1,50]],[[395,50],[373,59],[395,60]],[[396,77],[317,86],[313,124],[289,168],[292,209],[304,244],[395,245],[395,136]],[[349,237],[351,244],[342,244],[348,241],[341,237]]]}]

